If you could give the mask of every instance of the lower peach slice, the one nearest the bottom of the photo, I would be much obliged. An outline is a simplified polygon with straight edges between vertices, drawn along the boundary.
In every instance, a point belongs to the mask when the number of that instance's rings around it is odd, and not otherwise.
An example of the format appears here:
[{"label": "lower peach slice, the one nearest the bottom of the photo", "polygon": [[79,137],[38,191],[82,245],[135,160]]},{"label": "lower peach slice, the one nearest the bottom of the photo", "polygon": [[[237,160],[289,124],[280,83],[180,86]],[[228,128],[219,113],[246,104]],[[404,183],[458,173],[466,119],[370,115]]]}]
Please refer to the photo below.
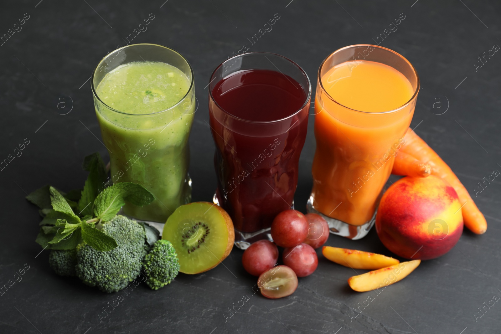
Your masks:
[{"label": "lower peach slice, the one nearest the bottom of the photo", "polygon": [[421,260],[412,260],[352,276],[348,278],[348,284],[352,289],[359,292],[385,287],[406,277],[417,268],[419,263],[421,263]]}]

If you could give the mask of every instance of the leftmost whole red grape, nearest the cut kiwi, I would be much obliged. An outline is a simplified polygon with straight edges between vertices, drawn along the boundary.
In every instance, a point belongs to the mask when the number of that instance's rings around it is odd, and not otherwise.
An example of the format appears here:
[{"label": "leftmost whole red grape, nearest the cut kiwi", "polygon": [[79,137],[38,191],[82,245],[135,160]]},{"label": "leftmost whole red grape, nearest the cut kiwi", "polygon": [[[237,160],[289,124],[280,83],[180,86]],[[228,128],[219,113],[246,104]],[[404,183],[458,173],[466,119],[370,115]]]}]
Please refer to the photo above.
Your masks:
[{"label": "leftmost whole red grape, nearest the cut kiwi", "polygon": [[273,268],[279,258],[279,249],[269,240],[259,240],[250,245],[242,255],[243,268],[251,275],[259,276]]}]

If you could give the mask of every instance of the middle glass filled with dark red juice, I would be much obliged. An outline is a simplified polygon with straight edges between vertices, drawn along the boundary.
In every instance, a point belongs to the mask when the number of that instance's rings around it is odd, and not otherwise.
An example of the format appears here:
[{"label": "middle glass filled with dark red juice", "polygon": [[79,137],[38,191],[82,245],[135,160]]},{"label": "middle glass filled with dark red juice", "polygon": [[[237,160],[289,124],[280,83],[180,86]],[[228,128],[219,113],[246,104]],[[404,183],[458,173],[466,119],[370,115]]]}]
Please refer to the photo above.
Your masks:
[{"label": "middle glass filled with dark red juice", "polygon": [[308,127],[310,79],[293,61],[253,52],[229,58],[210,78],[216,150],[214,203],[233,220],[235,245],[270,236],[275,216],[294,208]]}]

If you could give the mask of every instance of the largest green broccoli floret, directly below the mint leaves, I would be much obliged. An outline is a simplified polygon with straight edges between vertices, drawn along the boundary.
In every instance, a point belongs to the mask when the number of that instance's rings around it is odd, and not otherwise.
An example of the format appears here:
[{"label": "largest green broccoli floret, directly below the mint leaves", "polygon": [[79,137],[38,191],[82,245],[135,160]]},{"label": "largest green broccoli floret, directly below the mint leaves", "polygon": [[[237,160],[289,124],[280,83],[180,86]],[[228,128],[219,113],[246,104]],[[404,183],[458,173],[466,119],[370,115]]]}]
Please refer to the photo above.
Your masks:
[{"label": "largest green broccoli floret, directly below the mint leaves", "polygon": [[77,276],[101,291],[119,291],[141,272],[142,261],[149,250],[144,228],[136,221],[118,215],[104,223],[102,231],[115,238],[118,247],[99,251],[86,243],[81,244],[77,248]]}]

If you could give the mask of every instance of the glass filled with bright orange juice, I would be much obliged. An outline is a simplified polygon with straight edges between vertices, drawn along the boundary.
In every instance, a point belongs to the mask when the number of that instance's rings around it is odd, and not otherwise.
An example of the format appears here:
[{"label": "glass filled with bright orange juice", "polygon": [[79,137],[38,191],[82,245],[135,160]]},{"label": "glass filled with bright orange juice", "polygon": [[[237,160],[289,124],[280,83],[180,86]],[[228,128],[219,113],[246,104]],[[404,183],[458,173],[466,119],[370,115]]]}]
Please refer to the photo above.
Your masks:
[{"label": "glass filled with bright orange juice", "polygon": [[326,218],[331,233],[359,239],[374,224],[418,90],[414,67],[382,47],[345,47],[320,66],[307,207]]}]

